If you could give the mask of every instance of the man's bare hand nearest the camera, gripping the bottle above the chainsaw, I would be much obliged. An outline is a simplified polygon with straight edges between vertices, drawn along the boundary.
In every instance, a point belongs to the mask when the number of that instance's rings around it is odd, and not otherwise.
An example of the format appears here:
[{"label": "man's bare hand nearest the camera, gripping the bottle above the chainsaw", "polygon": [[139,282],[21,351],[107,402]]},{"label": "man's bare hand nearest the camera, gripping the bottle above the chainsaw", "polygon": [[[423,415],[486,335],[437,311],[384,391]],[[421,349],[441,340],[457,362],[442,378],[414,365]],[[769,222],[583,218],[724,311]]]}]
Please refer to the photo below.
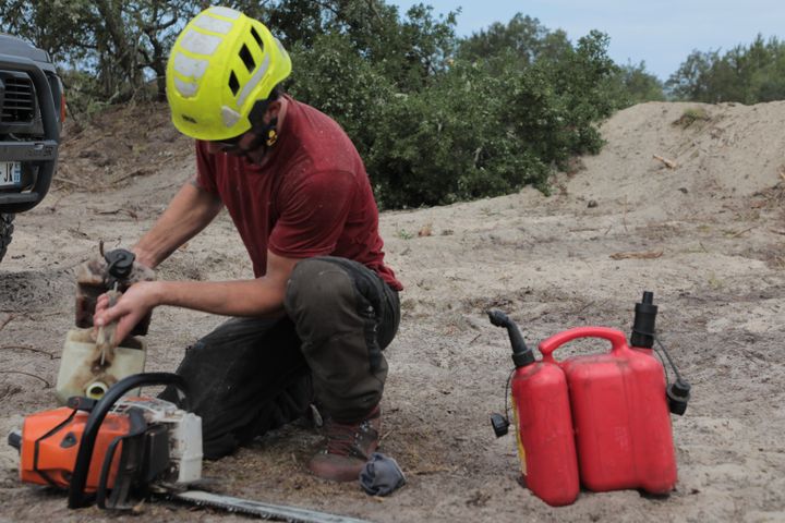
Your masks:
[{"label": "man's bare hand nearest the camera, gripping the bottle above the chainsaw", "polygon": [[159,284],[156,281],[134,283],[111,307],[109,295],[101,294],[96,302],[94,324],[101,327],[117,321],[114,342],[119,344],[147,313],[161,303],[158,291]]}]

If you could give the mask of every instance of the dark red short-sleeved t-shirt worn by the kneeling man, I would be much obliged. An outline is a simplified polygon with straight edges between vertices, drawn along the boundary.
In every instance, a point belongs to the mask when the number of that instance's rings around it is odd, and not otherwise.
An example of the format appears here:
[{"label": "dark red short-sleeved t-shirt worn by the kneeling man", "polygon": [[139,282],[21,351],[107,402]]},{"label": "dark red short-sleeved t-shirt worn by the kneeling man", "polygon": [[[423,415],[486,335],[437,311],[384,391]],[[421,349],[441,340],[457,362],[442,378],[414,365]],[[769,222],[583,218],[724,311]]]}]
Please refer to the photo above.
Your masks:
[{"label": "dark red short-sleeved t-shirt worn by the kneeling man", "polygon": [[224,153],[212,155],[197,141],[200,186],[224,202],[257,278],[266,272],[269,250],[288,258],[353,259],[401,290],[384,264],[378,209],[354,145],[326,114],[287,100],[278,142],[263,167]]}]

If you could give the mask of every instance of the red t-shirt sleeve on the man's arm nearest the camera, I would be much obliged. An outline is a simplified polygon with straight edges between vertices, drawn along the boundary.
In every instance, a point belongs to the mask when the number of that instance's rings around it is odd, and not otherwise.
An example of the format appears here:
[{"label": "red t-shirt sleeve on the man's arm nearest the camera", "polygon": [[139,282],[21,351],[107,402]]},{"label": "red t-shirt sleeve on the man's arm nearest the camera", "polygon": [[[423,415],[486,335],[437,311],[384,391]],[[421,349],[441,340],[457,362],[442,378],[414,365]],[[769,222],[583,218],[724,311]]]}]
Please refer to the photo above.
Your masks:
[{"label": "red t-shirt sleeve on the man's arm nearest the camera", "polygon": [[279,194],[282,209],[268,248],[290,258],[322,256],[335,251],[357,191],[354,177],[345,171],[299,177]]}]

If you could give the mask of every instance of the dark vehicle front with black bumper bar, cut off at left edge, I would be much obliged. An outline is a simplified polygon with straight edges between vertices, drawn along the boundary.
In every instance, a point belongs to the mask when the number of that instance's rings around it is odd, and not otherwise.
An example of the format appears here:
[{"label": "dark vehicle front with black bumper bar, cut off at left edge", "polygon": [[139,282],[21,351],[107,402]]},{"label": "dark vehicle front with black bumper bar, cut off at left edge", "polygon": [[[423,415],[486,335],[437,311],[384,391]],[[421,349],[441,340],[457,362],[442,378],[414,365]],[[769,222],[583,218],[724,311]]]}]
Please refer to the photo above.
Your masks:
[{"label": "dark vehicle front with black bumper bar, cut off at left edge", "polygon": [[0,260],[14,216],[38,205],[49,191],[64,107],[49,54],[0,33]]}]

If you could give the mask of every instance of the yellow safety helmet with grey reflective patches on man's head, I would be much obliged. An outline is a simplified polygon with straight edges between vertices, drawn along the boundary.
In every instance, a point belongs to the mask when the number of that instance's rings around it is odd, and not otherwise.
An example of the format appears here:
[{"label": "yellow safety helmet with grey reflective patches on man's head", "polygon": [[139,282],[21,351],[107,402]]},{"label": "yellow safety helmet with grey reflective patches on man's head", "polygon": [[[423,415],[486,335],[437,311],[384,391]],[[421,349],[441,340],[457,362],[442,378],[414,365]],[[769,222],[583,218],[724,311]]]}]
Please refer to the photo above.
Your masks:
[{"label": "yellow safety helmet with grey reflective patches on man's head", "polygon": [[206,9],[188,23],[169,54],[172,122],[196,139],[239,136],[251,129],[254,104],[290,73],[289,53],[261,22],[233,9]]}]

